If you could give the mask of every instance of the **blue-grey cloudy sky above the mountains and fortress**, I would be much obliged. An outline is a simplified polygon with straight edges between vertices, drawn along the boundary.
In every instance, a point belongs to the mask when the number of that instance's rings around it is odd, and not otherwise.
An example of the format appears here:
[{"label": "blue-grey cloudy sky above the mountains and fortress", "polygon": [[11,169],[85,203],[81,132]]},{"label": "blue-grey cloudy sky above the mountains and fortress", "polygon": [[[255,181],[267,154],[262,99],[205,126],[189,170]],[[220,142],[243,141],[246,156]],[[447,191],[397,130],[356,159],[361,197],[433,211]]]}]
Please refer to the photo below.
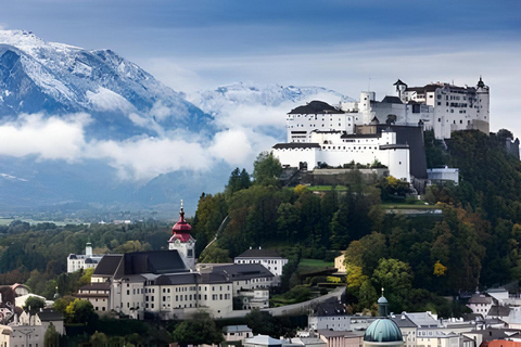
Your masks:
[{"label": "blue-grey cloudy sky above the mountains and fortress", "polygon": [[412,85],[491,86],[492,130],[521,136],[521,1],[3,1],[0,26],[110,48],[181,91],[234,81],[377,98]]}]

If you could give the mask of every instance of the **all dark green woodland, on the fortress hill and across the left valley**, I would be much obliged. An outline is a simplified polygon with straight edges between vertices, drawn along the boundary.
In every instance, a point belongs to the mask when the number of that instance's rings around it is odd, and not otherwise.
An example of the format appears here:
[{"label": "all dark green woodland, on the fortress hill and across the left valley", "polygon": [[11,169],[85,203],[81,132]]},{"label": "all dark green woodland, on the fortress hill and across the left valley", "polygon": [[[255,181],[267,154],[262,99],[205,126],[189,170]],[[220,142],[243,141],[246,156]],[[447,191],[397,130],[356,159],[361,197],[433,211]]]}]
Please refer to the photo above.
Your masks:
[{"label": "all dark green woodland, on the fortress hill and across the left valley", "polygon": [[[429,187],[423,200],[443,215],[423,217],[386,211],[390,204],[419,203],[392,177],[368,179],[352,170],[329,190],[281,187],[280,163],[262,153],[252,175],[238,168],[224,192],[201,195],[190,220],[199,260],[224,262],[249,247],[277,248],[290,259],[287,291],[300,284],[302,258],[332,260],[345,250],[353,310],[371,308],[385,287],[392,311],[450,316],[457,308],[442,295],[521,278],[521,163],[505,151],[507,132],[454,132],[445,143],[425,132],[429,166],[459,168],[460,183]],[[66,257],[82,253],[89,240],[97,254],[161,249],[170,228],[154,220],[125,227],[14,221],[0,227],[0,284],[26,283],[46,297],[58,285],[67,295],[85,277],[64,273]]]}]

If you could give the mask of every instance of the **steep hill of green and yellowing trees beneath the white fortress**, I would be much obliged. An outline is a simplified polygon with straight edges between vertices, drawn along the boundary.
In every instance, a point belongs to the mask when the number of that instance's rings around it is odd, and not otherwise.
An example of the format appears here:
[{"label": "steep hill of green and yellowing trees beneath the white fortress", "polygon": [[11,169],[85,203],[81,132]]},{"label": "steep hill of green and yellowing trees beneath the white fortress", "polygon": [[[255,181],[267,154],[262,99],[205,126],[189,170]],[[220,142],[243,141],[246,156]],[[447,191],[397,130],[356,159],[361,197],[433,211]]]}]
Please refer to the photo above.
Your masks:
[{"label": "steep hill of green and yellowing trees beneath the white fortress", "polygon": [[383,285],[396,296],[395,309],[411,309],[425,290],[447,295],[519,280],[521,163],[495,134],[455,132],[446,145],[425,133],[430,166],[460,169],[459,185],[428,189],[424,200],[444,210],[437,219],[386,214],[385,203],[403,191],[392,178],[368,182],[353,171],[336,190],[280,188],[265,180],[277,174],[276,159],[259,156],[252,185],[238,169],[225,192],[201,196],[200,249],[226,216],[230,221],[200,260],[226,261],[251,246],[313,258],[346,249],[353,296],[369,305]]}]

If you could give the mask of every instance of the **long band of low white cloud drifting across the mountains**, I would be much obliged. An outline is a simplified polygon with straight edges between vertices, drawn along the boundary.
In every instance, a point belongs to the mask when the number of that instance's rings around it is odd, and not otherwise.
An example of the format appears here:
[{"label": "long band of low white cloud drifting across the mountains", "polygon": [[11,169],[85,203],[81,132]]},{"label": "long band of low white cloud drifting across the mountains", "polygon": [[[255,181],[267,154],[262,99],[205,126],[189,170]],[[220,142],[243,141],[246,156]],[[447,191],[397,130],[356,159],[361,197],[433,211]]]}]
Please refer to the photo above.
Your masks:
[{"label": "long band of low white cloud drifting across the mountains", "polygon": [[[147,119],[130,114],[136,124]],[[21,115],[0,125],[0,155],[38,160],[101,159],[118,172],[122,180],[145,182],[161,174],[177,170],[208,171],[216,163],[250,167],[253,158],[276,140],[250,128],[237,127],[202,141],[198,133],[164,131],[158,137],[135,137],[123,141],[87,140],[86,126],[96,121],[88,114],[45,117]]]}]

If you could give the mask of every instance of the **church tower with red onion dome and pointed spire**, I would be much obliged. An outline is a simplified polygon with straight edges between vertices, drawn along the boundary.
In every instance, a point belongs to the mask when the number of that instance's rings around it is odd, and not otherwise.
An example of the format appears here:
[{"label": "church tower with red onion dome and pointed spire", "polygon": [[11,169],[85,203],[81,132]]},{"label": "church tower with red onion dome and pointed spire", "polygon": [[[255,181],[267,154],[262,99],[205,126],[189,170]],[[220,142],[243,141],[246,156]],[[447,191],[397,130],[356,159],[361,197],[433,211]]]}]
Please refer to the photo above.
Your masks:
[{"label": "church tower with red onion dome and pointed spire", "polygon": [[185,210],[179,211],[179,221],[171,228],[171,236],[168,240],[168,249],[177,250],[187,269],[195,269],[195,239],[190,232],[192,227],[185,220]]}]

